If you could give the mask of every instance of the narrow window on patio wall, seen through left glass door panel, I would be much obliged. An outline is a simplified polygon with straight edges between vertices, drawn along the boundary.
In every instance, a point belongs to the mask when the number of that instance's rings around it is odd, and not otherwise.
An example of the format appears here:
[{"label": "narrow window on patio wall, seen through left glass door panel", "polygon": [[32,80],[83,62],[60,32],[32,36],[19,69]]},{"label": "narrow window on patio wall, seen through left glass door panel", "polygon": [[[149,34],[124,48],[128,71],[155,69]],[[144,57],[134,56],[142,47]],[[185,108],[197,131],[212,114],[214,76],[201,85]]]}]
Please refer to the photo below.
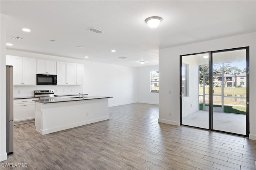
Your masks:
[{"label": "narrow window on patio wall, seen through left glass door panel", "polygon": [[182,63],[181,66],[181,95],[182,97],[188,96],[188,64]]}]

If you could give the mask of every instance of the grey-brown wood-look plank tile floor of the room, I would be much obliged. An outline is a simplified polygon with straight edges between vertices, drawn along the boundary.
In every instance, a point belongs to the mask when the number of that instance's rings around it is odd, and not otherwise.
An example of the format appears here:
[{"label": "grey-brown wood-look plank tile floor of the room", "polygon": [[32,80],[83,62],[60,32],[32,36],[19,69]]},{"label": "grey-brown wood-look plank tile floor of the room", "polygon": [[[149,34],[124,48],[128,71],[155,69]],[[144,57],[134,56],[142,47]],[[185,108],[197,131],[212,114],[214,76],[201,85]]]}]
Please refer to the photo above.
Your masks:
[{"label": "grey-brown wood-look plank tile floor of the room", "polygon": [[256,169],[255,140],[158,123],[158,105],[110,107],[109,114],[108,121],[46,135],[34,123],[16,125],[14,153],[1,170]]}]

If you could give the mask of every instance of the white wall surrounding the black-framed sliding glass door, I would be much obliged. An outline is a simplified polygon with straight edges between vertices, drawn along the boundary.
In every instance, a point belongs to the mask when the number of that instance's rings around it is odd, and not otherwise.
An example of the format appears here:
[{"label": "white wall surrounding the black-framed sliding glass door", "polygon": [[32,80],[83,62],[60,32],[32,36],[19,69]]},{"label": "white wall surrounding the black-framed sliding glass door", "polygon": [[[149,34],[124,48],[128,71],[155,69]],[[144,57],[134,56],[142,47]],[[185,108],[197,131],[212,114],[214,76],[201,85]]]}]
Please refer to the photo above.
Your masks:
[{"label": "white wall surrounding the black-framed sliding glass door", "polygon": [[[180,55],[250,46],[250,134],[256,140],[256,33],[159,50],[159,122],[180,125]],[[172,93],[169,94],[168,91]],[[172,113],[169,116],[169,113]]]}]

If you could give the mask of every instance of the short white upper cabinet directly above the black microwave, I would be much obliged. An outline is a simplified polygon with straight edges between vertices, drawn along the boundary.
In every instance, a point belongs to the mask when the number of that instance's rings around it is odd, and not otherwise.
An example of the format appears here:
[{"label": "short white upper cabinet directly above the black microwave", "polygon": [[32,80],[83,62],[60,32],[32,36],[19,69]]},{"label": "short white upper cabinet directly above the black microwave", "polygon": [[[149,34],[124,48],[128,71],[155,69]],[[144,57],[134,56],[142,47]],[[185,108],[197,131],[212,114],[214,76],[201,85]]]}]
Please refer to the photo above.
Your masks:
[{"label": "short white upper cabinet directly above the black microwave", "polygon": [[50,60],[38,59],[36,73],[37,74],[56,75],[57,74],[57,62],[50,61]]}]

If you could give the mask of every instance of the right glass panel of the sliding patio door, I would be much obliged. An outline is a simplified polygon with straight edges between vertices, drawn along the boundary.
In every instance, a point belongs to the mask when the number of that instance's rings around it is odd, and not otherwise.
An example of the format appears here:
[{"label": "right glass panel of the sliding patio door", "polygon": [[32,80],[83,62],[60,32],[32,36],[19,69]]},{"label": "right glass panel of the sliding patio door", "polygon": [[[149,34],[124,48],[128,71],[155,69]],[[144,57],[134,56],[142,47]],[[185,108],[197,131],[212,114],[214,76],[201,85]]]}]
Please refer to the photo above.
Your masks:
[{"label": "right glass panel of the sliding patio door", "polygon": [[212,129],[246,135],[246,49],[212,52]]}]

